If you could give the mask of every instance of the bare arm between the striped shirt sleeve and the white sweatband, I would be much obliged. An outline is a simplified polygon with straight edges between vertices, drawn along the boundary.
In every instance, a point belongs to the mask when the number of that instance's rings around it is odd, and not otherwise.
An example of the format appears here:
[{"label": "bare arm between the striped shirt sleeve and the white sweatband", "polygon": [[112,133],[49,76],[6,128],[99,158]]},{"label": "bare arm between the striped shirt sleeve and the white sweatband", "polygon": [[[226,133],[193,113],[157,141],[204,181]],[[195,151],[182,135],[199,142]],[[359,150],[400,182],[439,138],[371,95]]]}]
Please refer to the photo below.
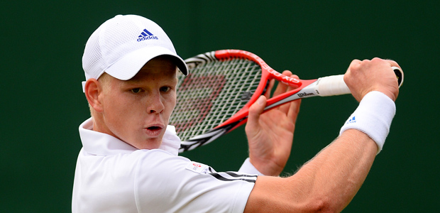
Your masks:
[{"label": "bare arm between the striped shirt sleeve and the white sweatband", "polygon": [[349,129],[290,178],[259,176],[246,212],[340,212],[358,192],[377,151],[365,133]]}]

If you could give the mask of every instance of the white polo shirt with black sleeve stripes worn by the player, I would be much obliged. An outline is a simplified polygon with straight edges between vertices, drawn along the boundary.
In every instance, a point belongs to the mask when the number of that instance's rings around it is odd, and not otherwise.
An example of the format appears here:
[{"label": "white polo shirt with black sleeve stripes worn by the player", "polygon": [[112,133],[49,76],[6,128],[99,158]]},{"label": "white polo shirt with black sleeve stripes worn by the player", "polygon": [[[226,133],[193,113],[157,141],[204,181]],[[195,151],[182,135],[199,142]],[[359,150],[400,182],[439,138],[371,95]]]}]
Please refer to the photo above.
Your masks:
[{"label": "white polo shirt with black sleeve stripes worn by the player", "polygon": [[[139,150],[79,126],[72,212],[243,212],[259,174],[248,160],[239,172],[216,173],[177,156],[180,139],[167,126],[159,149]],[[260,175],[260,174],[259,174]]]}]

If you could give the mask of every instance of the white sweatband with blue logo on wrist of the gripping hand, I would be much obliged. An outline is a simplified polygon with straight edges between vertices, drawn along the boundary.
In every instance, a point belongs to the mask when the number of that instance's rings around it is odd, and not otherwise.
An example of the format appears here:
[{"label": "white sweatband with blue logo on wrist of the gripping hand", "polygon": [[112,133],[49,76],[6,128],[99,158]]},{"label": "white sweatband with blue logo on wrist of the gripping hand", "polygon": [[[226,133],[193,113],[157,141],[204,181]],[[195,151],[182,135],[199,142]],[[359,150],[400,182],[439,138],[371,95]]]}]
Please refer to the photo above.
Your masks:
[{"label": "white sweatband with blue logo on wrist of the gripping hand", "polygon": [[396,106],[390,97],[378,91],[368,92],[359,103],[359,107],[342,126],[339,136],[347,129],[362,131],[378,144],[378,153],[380,153],[385,138],[390,132],[395,113]]}]

